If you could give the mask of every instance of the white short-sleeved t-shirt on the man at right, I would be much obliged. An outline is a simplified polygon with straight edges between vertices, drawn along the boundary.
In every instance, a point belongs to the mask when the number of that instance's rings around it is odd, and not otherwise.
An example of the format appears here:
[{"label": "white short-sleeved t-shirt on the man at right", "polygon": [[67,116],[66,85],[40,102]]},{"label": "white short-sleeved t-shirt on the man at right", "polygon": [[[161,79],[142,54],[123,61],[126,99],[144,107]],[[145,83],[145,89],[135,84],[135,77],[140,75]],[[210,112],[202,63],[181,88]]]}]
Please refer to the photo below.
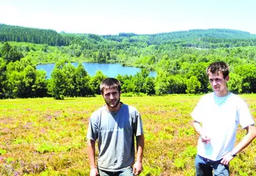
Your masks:
[{"label": "white short-sleeved t-shirt on the man at right", "polygon": [[235,146],[237,126],[253,125],[254,121],[244,100],[229,93],[217,97],[215,93],[204,95],[191,113],[195,121],[202,123],[203,133],[210,143],[197,142],[197,154],[210,160],[220,160]]}]

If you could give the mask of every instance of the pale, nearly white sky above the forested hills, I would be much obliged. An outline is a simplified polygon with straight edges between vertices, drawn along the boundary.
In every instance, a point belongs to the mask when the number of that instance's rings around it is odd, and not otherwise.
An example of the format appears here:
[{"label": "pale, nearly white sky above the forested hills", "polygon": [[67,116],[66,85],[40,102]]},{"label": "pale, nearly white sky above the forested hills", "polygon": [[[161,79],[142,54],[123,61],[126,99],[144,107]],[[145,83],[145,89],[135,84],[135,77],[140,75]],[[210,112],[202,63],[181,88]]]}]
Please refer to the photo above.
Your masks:
[{"label": "pale, nearly white sky above the forested hills", "polygon": [[0,0],[0,24],[67,33],[237,29],[256,34],[256,0]]}]

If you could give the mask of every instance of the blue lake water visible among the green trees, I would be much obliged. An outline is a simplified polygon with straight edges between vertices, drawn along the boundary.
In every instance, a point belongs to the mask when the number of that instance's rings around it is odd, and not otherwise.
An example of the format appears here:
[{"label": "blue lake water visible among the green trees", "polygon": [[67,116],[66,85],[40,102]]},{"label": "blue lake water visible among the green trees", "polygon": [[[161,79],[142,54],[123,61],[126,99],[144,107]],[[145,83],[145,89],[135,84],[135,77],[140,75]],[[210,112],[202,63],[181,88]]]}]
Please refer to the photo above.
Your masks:
[{"label": "blue lake water visible among the green trees", "polygon": [[[134,76],[136,73],[141,71],[141,68],[122,66],[119,63],[82,63],[85,70],[89,74],[89,76],[94,76],[97,71],[102,71],[105,76],[108,77],[116,77],[118,74],[120,75],[132,75]],[[73,66],[78,65],[78,63],[72,63]],[[54,70],[55,63],[48,64],[40,64],[36,66],[36,69],[43,69],[46,71],[47,78],[51,78],[51,72]],[[150,71],[149,76],[156,77],[157,72]]]}]

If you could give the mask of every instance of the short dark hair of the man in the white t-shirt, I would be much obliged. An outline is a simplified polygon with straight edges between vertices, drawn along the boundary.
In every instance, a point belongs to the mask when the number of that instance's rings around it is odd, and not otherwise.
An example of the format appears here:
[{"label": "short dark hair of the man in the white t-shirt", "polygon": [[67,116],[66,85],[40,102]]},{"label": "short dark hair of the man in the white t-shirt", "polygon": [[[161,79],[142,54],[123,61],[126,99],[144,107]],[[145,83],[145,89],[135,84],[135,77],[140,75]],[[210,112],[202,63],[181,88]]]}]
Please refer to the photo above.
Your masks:
[{"label": "short dark hair of the man in the white t-shirt", "polygon": [[209,73],[215,74],[218,72],[222,73],[223,77],[226,78],[230,73],[227,63],[223,61],[211,63],[206,69],[207,76],[209,76]]}]

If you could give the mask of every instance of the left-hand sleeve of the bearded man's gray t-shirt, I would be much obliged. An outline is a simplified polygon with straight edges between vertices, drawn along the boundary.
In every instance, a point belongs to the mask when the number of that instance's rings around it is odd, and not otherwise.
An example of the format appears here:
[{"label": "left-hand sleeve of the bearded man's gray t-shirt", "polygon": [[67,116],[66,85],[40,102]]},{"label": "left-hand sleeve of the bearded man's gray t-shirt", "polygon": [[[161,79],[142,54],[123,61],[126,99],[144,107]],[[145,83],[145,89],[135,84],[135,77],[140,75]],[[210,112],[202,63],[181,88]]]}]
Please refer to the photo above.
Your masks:
[{"label": "left-hand sleeve of the bearded man's gray t-shirt", "polygon": [[89,119],[89,126],[87,130],[87,139],[97,140],[98,138],[98,123],[97,123],[97,113],[92,113],[92,116]]}]

